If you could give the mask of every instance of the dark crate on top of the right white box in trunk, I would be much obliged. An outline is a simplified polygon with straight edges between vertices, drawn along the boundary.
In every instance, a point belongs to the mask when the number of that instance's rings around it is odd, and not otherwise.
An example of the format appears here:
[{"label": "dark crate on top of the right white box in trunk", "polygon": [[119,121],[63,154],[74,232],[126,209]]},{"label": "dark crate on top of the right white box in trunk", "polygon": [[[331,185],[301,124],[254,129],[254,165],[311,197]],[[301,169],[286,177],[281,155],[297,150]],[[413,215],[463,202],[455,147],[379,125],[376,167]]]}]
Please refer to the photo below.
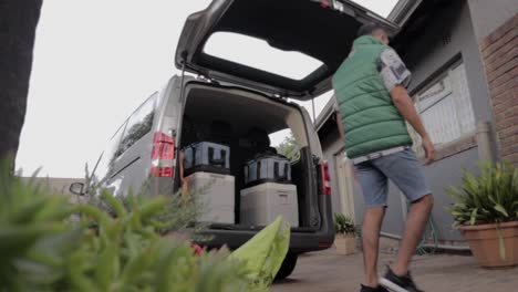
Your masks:
[{"label": "dark crate on top of the right white box in trunk", "polygon": [[245,184],[255,186],[263,182],[291,182],[291,164],[277,154],[261,154],[245,165]]}]

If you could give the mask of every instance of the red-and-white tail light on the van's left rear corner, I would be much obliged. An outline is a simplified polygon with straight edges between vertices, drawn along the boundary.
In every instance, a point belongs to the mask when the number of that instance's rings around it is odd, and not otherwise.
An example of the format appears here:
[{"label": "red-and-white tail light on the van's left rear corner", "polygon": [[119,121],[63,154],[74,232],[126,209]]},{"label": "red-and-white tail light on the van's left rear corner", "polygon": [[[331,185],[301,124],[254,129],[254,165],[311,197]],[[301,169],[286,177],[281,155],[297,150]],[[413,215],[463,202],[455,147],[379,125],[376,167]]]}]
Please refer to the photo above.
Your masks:
[{"label": "red-and-white tail light on the van's left rear corner", "polygon": [[153,177],[173,177],[175,165],[175,140],[162,132],[153,137],[152,171]]}]

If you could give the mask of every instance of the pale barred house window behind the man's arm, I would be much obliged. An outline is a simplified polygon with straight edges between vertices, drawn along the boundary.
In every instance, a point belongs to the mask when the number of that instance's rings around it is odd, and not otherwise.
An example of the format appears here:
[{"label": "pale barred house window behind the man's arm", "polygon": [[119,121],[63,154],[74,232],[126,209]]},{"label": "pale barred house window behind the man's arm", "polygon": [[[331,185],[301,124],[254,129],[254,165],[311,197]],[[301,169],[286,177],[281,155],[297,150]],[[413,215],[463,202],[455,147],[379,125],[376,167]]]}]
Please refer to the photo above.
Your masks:
[{"label": "pale barred house window behind the man's arm", "polygon": [[[418,92],[414,101],[434,144],[447,144],[475,132],[472,98],[462,62]],[[413,136],[416,138],[416,133]]]}]

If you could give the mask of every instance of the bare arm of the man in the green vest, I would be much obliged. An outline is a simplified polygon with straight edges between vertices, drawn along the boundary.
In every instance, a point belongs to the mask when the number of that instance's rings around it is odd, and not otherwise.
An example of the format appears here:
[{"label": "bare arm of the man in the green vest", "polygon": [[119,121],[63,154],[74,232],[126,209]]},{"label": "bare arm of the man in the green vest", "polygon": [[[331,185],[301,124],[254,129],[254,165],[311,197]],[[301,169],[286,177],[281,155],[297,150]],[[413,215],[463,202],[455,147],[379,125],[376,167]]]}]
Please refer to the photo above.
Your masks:
[{"label": "bare arm of the man in the green vest", "polygon": [[419,136],[423,138],[423,148],[426,153],[426,165],[429,165],[435,160],[435,147],[432,143],[432,139],[429,138],[428,133],[423,126],[423,123],[421,122],[421,117],[415,111],[414,103],[408,96],[408,92],[402,85],[397,85],[391,90],[391,96],[394,105],[397,107],[403,117],[414,127],[415,131],[417,131]]}]

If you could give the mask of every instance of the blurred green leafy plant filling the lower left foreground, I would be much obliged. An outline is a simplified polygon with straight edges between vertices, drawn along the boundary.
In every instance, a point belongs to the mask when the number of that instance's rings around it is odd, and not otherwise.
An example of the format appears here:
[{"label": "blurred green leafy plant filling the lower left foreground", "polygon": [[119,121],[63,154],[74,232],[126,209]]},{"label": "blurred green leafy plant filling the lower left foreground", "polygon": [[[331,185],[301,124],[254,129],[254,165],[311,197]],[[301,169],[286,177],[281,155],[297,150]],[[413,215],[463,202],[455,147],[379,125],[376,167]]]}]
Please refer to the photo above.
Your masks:
[{"label": "blurred green leafy plant filling the lower left foreground", "polygon": [[6,164],[0,196],[0,291],[247,290],[247,269],[227,251],[195,257],[188,242],[157,232],[170,198],[128,197],[125,207],[103,191],[111,212],[73,206]]}]

